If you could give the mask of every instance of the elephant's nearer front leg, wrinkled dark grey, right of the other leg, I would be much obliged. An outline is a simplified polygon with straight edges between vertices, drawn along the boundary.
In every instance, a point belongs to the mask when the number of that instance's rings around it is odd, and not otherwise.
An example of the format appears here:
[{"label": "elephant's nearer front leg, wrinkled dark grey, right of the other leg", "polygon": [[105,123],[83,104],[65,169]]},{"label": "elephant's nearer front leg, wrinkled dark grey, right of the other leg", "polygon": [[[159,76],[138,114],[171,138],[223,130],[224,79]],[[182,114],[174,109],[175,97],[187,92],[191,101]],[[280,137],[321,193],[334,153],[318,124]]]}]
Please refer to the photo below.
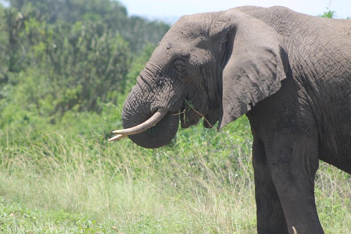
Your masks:
[{"label": "elephant's nearer front leg, wrinkled dark grey, right of the other leg", "polygon": [[265,144],[265,151],[289,234],[292,227],[298,234],[324,234],[314,200],[317,139],[306,136],[317,134],[275,136],[274,143]]}]

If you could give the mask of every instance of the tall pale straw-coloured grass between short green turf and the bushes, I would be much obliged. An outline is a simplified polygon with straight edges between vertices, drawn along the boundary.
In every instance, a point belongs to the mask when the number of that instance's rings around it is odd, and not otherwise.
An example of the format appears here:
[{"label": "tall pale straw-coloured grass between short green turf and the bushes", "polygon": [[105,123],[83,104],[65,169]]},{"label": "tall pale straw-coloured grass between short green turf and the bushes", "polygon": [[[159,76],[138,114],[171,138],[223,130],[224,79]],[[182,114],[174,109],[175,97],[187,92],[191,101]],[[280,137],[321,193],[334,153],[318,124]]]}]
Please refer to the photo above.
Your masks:
[{"label": "tall pale straw-coloured grass between short green turf and the bushes", "polygon": [[254,232],[250,145],[243,153],[236,144],[227,158],[227,147],[216,149],[211,161],[210,136],[197,133],[206,143],[189,131],[159,150],[108,144],[102,135],[25,136],[0,149],[0,196],[30,209],[92,214],[126,233]]}]

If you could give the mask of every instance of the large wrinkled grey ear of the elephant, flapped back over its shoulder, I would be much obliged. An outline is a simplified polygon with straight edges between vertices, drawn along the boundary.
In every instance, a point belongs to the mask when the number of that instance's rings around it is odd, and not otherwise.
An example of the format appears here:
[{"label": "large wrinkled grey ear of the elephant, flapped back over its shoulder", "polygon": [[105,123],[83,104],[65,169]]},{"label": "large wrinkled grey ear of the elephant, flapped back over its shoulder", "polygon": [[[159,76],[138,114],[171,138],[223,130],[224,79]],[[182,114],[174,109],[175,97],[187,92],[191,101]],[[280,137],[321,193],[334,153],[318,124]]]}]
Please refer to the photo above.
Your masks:
[{"label": "large wrinkled grey ear of the elephant, flapped back over its shoulder", "polygon": [[225,51],[218,129],[277,92],[290,71],[284,42],[270,26],[235,10],[220,17]]}]

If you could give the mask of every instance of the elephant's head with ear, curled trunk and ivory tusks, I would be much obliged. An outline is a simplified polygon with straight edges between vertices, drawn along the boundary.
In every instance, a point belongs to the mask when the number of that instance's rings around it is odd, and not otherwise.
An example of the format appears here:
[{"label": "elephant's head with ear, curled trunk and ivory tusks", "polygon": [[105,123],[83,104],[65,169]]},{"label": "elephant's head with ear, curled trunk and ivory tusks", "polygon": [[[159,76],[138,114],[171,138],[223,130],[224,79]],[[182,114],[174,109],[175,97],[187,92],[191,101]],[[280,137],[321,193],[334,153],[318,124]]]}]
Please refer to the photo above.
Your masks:
[{"label": "elephant's head with ear, curled trunk and ivory tusks", "polygon": [[123,107],[125,129],[110,141],[129,135],[161,147],[179,118],[183,128],[201,117],[222,128],[277,92],[288,69],[283,40],[262,21],[234,9],[183,16],[140,72]]}]

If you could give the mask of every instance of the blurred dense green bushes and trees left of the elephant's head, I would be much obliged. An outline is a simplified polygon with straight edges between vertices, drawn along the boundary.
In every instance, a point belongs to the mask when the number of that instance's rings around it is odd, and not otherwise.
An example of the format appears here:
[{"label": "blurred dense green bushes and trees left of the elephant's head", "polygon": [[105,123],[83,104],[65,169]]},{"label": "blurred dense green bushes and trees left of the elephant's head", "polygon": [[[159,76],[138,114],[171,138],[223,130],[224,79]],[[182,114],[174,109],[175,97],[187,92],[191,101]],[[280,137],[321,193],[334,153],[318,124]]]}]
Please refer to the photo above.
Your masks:
[{"label": "blurred dense green bushes and trees left of the elephant's head", "polygon": [[141,69],[132,61],[151,53],[169,29],[128,17],[112,0],[9,3],[0,6],[3,130],[47,129],[69,111],[100,113],[104,103],[123,102],[118,97],[135,82],[133,68]]}]

